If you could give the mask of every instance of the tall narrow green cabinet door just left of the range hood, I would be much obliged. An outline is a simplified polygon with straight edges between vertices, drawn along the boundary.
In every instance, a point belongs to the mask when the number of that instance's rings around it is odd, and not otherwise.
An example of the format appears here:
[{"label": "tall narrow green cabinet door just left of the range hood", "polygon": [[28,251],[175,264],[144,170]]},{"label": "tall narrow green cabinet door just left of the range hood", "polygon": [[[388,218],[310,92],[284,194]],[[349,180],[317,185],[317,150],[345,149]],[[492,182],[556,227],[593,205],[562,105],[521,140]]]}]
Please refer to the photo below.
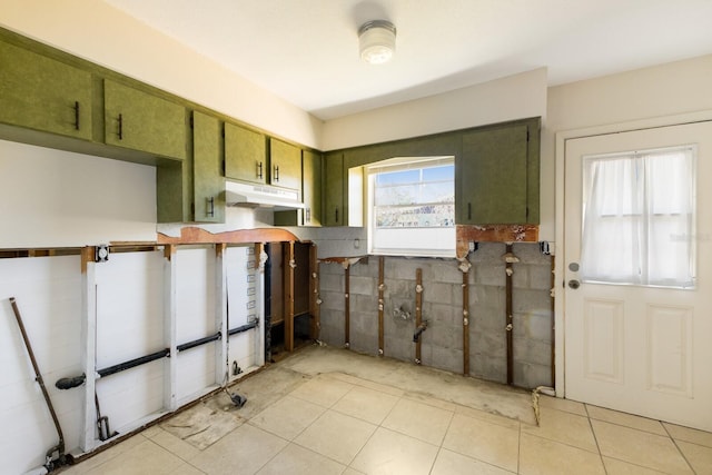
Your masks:
[{"label": "tall narrow green cabinet door just left of the range hood", "polygon": [[192,211],[200,222],[225,222],[222,130],[211,116],[192,112]]}]

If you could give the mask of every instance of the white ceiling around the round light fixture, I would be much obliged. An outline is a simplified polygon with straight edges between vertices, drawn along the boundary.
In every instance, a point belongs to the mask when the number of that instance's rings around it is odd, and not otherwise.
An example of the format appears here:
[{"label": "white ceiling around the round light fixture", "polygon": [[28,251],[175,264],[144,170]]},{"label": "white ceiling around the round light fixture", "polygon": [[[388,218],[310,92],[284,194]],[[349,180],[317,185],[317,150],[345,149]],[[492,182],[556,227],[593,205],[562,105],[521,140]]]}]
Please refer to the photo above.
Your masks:
[{"label": "white ceiling around the round light fixture", "polygon": [[[548,68],[550,86],[712,53],[712,0],[103,0],[328,120]],[[358,57],[386,19],[396,56]]]}]

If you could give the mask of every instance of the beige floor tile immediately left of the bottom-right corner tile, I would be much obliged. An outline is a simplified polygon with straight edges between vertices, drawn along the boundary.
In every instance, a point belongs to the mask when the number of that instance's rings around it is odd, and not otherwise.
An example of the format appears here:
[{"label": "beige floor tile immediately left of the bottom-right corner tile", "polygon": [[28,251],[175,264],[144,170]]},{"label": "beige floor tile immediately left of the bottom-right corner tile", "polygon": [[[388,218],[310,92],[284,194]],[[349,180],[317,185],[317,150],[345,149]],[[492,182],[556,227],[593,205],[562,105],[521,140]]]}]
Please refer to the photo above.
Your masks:
[{"label": "beige floor tile immediately left of the bottom-right corner tile", "polygon": [[602,420],[591,424],[604,456],[666,473],[692,473],[669,437]]}]

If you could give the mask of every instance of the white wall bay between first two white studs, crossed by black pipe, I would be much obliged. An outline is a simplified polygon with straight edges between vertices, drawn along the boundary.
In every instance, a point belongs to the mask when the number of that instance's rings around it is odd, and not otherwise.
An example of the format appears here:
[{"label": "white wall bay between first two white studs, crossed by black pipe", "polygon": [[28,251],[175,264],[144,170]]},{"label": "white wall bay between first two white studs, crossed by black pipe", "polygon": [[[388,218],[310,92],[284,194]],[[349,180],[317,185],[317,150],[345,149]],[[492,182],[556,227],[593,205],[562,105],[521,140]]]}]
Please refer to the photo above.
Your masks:
[{"label": "white wall bay between first two white studs, crossed by black pipe", "polygon": [[[97,265],[97,369],[166,348],[161,251],[111,254]],[[166,358],[97,380],[111,428],[134,428],[164,407]]]}]

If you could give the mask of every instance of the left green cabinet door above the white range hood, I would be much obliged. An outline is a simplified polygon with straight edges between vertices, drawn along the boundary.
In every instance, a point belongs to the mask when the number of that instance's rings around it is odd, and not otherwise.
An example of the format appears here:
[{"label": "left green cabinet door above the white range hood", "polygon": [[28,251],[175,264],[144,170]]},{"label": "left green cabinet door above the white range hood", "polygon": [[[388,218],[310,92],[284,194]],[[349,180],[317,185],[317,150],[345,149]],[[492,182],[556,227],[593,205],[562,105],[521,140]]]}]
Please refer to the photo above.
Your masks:
[{"label": "left green cabinet door above the white range hood", "polygon": [[263,133],[225,122],[225,177],[267,182],[267,138]]}]

